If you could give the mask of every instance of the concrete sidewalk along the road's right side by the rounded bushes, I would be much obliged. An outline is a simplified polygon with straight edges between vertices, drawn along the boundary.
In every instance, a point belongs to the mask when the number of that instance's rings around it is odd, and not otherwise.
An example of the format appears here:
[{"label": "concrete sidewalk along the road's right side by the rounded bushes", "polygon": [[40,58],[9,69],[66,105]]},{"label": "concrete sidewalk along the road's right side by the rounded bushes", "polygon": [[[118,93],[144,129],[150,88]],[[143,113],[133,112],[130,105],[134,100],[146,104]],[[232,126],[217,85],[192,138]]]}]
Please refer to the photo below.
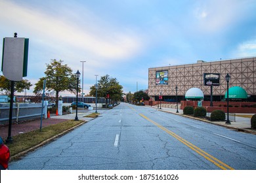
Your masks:
[{"label": "concrete sidewalk along the road's right side by the rounded bushes", "polygon": [[[150,106],[147,106],[147,107],[150,107]],[[177,112],[177,109],[176,108],[163,108],[160,107],[158,108],[157,106],[152,106],[150,108],[156,108],[156,110],[160,110],[160,111],[163,111],[163,112],[169,112],[169,113],[172,113],[172,114],[177,114],[177,115],[180,115],[180,116],[183,116],[183,110],[179,109],[179,113],[176,113]],[[236,122],[230,122],[231,124],[225,124],[225,122],[210,122],[208,120],[203,120],[203,119],[200,119],[200,118],[194,118],[194,117],[190,117],[190,116],[186,116],[187,118],[192,118],[192,119],[195,119],[195,120],[200,120],[202,122],[207,122],[209,124],[215,124],[215,125],[220,125],[220,126],[223,126],[223,127],[227,127],[229,129],[234,129],[234,130],[237,130],[237,131],[244,131],[246,133],[252,133],[252,134],[255,134],[256,135],[256,130],[253,130],[251,129],[251,118],[243,118],[243,117],[238,117],[236,116]]]}]

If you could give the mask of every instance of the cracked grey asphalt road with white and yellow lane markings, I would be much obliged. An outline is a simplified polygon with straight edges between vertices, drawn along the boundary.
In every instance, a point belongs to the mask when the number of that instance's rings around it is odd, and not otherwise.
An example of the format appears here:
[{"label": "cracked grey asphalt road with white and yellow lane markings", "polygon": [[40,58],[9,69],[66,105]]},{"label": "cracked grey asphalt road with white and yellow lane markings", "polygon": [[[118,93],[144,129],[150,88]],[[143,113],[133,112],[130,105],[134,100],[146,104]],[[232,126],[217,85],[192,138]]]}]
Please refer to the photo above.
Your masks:
[{"label": "cracked grey asphalt road with white and yellow lane markings", "polygon": [[9,169],[255,170],[256,136],[121,103]]}]

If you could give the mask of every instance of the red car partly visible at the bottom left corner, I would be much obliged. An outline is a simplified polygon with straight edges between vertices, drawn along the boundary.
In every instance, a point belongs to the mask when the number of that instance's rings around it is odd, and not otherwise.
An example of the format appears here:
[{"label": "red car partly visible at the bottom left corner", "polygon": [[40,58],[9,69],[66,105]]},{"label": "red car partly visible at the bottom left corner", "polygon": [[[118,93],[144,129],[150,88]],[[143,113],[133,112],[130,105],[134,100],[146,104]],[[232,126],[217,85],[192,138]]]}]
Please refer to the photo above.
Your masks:
[{"label": "red car partly visible at the bottom left corner", "polygon": [[10,159],[10,150],[3,144],[3,139],[0,137],[0,170],[8,168],[8,162]]}]

